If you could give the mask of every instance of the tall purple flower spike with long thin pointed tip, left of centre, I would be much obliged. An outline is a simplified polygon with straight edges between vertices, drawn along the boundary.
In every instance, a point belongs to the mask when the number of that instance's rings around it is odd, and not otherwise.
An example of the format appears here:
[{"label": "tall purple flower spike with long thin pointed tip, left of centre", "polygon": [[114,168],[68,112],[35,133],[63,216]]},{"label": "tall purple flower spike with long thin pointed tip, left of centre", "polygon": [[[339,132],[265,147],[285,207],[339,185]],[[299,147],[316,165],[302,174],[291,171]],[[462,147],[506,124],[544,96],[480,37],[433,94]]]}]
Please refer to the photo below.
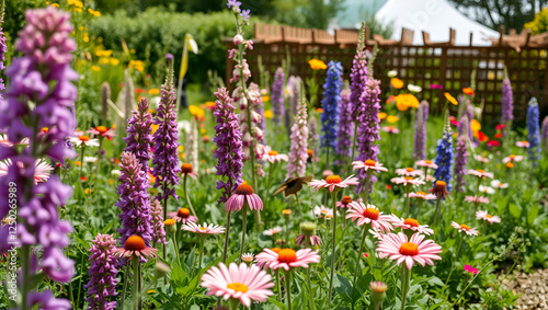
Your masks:
[{"label": "tall purple flower spike with long thin pointed tip, left of centre", "polygon": [[168,198],[172,196],[179,199],[175,194],[175,185],[179,185],[179,141],[176,130],[176,106],[175,92],[173,90],[173,62],[171,58],[168,60],[168,72],[165,82],[162,85],[160,106],[156,115],[155,125],[158,129],[155,131],[153,142],[153,160],[152,175],[156,176],[155,187],[160,187],[158,191],[158,200],[163,202],[163,217],[167,215]]}]

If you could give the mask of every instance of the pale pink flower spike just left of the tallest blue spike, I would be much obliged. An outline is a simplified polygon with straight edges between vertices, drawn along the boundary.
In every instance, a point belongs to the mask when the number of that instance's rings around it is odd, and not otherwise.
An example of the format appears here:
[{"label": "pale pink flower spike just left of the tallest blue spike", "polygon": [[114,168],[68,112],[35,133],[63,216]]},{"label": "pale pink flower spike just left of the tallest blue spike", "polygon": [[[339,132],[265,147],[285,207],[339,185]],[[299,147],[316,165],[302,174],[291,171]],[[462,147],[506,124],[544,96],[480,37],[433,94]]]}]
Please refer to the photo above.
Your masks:
[{"label": "pale pink flower spike just left of the tallest blue spike", "polygon": [[292,148],[287,162],[287,177],[304,176],[308,159],[307,103],[301,97],[297,107],[297,116],[292,127]]}]

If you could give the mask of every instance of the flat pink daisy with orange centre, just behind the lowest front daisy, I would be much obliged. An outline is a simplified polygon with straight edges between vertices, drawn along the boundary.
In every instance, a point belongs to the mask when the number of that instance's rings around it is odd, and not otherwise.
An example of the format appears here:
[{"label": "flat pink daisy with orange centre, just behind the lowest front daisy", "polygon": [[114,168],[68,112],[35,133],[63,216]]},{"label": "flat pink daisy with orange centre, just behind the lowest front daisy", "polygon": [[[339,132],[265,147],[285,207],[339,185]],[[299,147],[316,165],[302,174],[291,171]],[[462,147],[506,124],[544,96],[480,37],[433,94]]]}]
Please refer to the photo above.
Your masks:
[{"label": "flat pink daisy with orange centre, just behind the lowest front daisy", "polygon": [[270,249],[264,249],[263,252],[255,256],[255,259],[256,262],[264,264],[273,271],[283,268],[286,272],[296,267],[308,268],[308,264],[320,262],[320,255],[310,249],[302,249],[298,251],[282,249],[277,253]]}]

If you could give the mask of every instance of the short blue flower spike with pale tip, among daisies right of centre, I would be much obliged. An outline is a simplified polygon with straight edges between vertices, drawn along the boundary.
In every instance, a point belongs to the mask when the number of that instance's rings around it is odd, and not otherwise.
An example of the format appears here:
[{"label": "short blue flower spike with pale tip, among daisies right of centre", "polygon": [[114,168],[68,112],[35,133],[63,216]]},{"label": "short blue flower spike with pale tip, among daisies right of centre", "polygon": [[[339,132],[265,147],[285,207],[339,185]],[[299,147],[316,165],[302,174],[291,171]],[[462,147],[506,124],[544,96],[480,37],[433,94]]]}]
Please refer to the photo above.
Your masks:
[{"label": "short blue flower spike with pale tip, among daisies right of centre", "polygon": [[[434,172],[436,181],[444,181],[447,184],[447,191],[450,192],[452,167],[454,160],[455,149],[453,147],[453,133],[450,130],[450,123],[448,117],[445,118],[443,137],[437,140],[436,159],[437,169]],[[435,184],[435,182],[434,182]]]}]

